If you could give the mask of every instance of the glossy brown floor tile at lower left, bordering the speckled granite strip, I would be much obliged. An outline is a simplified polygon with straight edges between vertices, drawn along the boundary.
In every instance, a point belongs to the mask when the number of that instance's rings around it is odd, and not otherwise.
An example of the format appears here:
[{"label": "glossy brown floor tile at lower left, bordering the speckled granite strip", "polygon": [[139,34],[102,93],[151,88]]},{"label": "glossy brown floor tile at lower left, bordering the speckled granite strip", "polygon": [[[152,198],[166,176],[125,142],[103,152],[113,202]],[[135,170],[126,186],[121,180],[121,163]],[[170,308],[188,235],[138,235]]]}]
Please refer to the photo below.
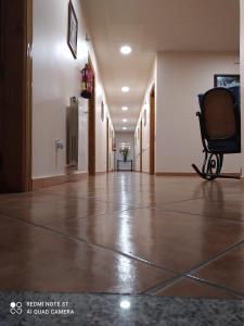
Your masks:
[{"label": "glossy brown floor tile at lower left, bordering the speckled granite strip", "polygon": [[0,215],[0,289],[139,293],[174,274]]}]

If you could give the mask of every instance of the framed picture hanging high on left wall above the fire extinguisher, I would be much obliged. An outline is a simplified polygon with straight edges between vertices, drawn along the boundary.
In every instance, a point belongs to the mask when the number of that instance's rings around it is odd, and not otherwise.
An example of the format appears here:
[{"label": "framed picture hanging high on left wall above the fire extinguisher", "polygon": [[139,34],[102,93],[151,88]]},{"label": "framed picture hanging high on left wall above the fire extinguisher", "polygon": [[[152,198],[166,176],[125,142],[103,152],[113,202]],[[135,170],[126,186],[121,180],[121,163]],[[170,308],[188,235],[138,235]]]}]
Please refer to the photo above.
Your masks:
[{"label": "framed picture hanging high on left wall above the fire extinguisher", "polygon": [[74,7],[72,4],[72,1],[69,0],[67,45],[75,59],[77,58],[77,37],[78,37],[78,20]]}]

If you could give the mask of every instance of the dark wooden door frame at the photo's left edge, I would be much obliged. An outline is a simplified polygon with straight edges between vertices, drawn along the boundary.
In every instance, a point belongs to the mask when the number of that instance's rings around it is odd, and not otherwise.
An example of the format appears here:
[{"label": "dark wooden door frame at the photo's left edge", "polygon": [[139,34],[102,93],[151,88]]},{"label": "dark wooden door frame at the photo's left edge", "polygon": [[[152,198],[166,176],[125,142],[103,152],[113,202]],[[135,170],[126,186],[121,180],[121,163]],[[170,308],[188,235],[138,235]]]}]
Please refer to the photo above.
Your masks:
[{"label": "dark wooden door frame at the photo's left edge", "polygon": [[1,191],[23,192],[33,189],[33,0],[0,5]]}]

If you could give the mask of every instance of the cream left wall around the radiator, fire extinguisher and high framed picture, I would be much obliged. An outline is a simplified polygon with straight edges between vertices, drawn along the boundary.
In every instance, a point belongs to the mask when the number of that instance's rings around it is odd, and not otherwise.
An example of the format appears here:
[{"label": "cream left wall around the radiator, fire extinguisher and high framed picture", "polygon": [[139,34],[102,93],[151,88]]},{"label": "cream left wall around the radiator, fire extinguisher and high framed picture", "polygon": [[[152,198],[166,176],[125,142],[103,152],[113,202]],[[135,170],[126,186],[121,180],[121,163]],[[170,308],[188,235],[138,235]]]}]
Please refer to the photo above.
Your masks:
[{"label": "cream left wall around the radiator, fire extinguisher and high framed picture", "polygon": [[[66,43],[68,0],[34,0],[34,51],[33,51],[33,177],[65,174],[66,151],[55,150],[55,139],[66,140],[66,108],[69,97],[79,97],[80,70],[88,60],[88,51],[95,68],[97,84],[97,171],[106,168],[106,118],[101,122],[101,101],[110,116],[105,95],[99,77],[92,45],[86,42],[86,26],[79,0],[73,0],[79,32],[78,58],[74,60]],[[88,101],[81,99],[81,110]],[[111,122],[111,118],[110,118]],[[81,125],[80,125],[81,127]],[[86,126],[87,127],[87,126]],[[112,122],[111,127],[113,128]],[[82,130],[80,130],[82,134]],[[80,135],[81,135],[80,134]],[[81,139],[80,139],[81,141]],[[85,140],[84,140],[85,141]],[[66,146],[65,146],[66,148]],[[87,170],[87,155],[79,152],[79,168]]]}]

